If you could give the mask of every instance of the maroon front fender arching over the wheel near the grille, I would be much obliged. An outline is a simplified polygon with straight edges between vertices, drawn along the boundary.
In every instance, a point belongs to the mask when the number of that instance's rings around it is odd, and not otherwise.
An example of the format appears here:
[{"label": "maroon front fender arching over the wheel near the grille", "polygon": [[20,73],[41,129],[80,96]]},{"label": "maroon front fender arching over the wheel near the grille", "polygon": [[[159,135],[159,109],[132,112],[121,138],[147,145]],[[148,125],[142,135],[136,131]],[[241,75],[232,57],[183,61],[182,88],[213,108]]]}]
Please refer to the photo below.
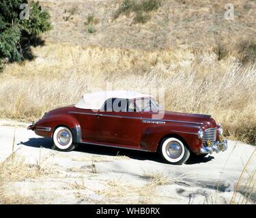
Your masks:
[{"label": "maroon front fender arching over the wheel near the grille", "polygon": [[201,147],[198,138],[199,126],[184,124],[156,124],[143,129],[141,146],[152,152],[156,152],[162,138],[167,136],[180,137],[186,142],[191,151],[197,153]]}]

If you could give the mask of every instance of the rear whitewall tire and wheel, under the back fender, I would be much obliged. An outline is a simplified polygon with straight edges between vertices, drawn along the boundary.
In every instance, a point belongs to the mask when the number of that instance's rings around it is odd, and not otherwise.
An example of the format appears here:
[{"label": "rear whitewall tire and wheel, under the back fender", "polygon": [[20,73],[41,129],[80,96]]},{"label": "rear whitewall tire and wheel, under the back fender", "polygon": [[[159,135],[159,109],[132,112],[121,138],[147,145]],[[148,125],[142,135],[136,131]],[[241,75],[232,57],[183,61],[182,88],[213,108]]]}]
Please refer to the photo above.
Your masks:
[{"label": "rear whitewall tire and wheel, under the back fender", "polygon": [[58,151],[72,151],[76,148],[73,135],[68,127],[57,127],[53,133],[53,149]]}]

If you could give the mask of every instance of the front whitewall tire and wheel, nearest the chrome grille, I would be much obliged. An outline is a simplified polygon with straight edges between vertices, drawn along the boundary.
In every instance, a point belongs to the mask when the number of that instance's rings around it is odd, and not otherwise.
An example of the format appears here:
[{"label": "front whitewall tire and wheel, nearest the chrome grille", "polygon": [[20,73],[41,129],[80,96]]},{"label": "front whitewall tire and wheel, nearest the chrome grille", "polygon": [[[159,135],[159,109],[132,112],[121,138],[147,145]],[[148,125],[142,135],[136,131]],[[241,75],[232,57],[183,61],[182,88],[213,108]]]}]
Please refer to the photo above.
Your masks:
[{"label": "front whitewall tire and wheel, nearest the chrome grille", "polygon": [[160,144],[160,153],[166,163],[180,165],[185,163],[190,157],[190,151],[177,138],[164,138]]}]

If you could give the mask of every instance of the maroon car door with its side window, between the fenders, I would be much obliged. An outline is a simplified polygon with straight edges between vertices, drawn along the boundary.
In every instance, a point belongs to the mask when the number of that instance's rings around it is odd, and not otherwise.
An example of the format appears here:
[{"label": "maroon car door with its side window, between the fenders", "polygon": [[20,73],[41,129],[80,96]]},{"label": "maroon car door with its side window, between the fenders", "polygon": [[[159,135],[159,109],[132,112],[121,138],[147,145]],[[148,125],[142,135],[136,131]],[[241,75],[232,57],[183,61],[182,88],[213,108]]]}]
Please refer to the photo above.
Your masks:
[{"label": "maroon car door with its side window, between the fenders", "polygon": [[96,142],[139,146],[141,115],[129,99],[107,99],[96,119]]}]

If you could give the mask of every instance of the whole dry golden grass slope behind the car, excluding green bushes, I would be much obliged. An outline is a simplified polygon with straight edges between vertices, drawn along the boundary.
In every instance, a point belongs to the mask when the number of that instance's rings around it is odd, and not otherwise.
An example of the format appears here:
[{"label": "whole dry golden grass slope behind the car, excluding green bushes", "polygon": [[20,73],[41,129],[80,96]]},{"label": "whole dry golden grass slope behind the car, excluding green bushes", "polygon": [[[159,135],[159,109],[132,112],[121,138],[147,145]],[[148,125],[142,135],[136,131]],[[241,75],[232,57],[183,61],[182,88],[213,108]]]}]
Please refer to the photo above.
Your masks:
[{"label": "whole dry golden grass slope behind the car, excluding green bushes", "polygon": [[54,28],[32,48],[35,59],[0,74],[1,117],[33,121],[110,86],[162,88],[167,110],[212,114],[226,136],[255,144],[255,1],[229,1],[235,19],[224,20],[222,1],[166,0],[145,24],[132,14],[113,20],[121,2],[40,1]]}]

